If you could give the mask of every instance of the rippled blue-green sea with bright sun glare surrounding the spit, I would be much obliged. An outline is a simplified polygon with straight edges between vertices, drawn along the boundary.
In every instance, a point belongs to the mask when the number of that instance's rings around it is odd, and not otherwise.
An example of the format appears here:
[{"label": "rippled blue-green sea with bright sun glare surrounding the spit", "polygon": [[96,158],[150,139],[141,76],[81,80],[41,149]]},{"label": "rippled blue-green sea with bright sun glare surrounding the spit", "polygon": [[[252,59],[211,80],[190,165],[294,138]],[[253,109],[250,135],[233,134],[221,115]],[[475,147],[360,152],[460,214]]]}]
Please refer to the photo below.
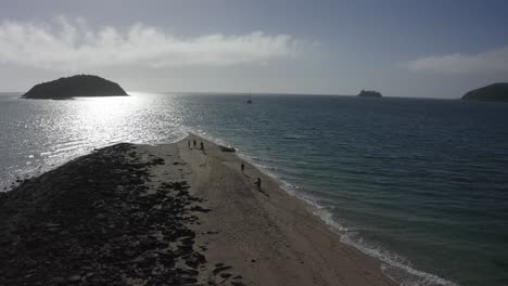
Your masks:
[{"label": "rippled blue-green sea with bright sun glare surrounding the spit", "polygon": [[237,147],[402,285],[508,285],[508,104],[130,94],[0,94],[0,191],[93,148],[191,131]]}]

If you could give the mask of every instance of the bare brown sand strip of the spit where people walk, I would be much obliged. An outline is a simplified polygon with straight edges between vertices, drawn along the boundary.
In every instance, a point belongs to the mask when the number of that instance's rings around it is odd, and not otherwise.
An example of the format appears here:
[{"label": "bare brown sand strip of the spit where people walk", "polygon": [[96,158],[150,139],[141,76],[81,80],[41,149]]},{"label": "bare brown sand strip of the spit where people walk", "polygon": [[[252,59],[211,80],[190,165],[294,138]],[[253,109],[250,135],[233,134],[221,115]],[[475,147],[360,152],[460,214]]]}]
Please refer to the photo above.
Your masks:
[{"label": "bare brown sand strip of the spit where people walk", "polygon": [[[204,142],[204,152],[187,147],[194,139],[196,147]],[[211,263],[233,265],[247,285],[396,285],[377,261],[340,243],[308,206],[236,154],[195,134],[177,146],[192,171],[191,194],[212,209],[198,214],[195,227],[196,233],[217,232],[196,237],[207,246]]]}]

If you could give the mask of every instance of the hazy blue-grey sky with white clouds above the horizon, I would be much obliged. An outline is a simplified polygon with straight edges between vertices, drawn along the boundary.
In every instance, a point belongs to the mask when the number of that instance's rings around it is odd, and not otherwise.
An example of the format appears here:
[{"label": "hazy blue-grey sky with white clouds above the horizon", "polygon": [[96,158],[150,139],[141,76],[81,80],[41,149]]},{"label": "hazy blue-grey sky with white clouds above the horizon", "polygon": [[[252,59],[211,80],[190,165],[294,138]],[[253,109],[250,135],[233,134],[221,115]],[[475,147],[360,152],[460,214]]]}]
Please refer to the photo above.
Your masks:
[{"label": "hazy blue-grey sky with white clouds above the horizon", "polygon": [[0,91],[94,74],[128,91],[456,99],[508,81],[508,1],[0,0]]}]

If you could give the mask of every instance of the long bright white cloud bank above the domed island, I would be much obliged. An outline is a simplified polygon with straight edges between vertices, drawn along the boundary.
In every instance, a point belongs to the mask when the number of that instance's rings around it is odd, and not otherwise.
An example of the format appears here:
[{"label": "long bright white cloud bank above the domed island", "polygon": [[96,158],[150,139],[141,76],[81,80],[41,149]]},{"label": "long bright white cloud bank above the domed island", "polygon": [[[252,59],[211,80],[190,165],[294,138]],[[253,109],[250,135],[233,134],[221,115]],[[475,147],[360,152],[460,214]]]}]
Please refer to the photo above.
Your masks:
[{"label": "long bright white cloud bank above the domed island", "polygon": [[0,63],[58,70],[265,64],[296,56],[302,44],[288,35],[262,31],[178,37],[142,23],[126,29],[91,29],[82,18],[64,16],[51,23],[3,21],[0,25]]}]

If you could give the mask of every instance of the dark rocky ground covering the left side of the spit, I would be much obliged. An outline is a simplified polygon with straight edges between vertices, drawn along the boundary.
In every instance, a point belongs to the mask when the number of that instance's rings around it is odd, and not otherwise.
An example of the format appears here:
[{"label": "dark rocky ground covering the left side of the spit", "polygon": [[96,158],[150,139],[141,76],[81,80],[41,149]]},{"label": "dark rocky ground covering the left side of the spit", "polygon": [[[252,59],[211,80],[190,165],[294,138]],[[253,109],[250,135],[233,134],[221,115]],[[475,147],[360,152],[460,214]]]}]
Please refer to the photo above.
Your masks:
[{"label": "dark rocky ground covering the left side of the spit", "polygon": [[162,164],[117,144],[2,194],[0,285],[195,285],[206,258],[188,225],[208,210],[186,181],[145,192]]}]

